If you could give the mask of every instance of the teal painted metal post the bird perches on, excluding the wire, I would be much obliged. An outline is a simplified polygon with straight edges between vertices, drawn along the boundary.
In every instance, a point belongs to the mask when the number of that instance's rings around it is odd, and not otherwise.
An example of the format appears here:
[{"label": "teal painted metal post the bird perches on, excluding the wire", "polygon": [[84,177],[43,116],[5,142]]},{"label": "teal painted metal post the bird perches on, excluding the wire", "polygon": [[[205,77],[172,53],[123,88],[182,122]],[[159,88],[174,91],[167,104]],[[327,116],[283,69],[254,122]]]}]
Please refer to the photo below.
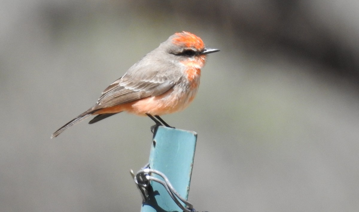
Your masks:
[{"label": "teal painted metal post the bird perches on, excluding the wire", "polygon": [[[190,191],[196,141],[197,133],[194,131],[159,126],[151,146],[150,168],[165,174],[185,199]],[[152,175],[163,180],[156,174]],[[161,184],[151,181],[151,186],[153,191],[142,204],[141,212],[182,211]]]}]

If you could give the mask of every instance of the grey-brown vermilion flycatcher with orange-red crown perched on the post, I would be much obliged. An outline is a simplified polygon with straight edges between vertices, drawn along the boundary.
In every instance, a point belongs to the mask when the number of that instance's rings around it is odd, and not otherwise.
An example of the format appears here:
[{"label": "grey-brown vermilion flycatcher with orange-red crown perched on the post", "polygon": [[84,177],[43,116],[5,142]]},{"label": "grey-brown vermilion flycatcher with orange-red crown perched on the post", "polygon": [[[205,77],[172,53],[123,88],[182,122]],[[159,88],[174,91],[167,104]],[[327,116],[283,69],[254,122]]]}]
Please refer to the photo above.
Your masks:
[{"label": "grey-brown vermilion flycatcher with orange-red crown perched on the post", "polygon": [[183,110],[192,102],[206,54],[218,51],[205,48],[201,38],[189,32],[172,35],[109,85],[95,106],[56,130],[51,138],[90,115],[97,115],[89,122],[93,124],[122,111],[147,115],[156,125],[170,127],[159,115]]}]

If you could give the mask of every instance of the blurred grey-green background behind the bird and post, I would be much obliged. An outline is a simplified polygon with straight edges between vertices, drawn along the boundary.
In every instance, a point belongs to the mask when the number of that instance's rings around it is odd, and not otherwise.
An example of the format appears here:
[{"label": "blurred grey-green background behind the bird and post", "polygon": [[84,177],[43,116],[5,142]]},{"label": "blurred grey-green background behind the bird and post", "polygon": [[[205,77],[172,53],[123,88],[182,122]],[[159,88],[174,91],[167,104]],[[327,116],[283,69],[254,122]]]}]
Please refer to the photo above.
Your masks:
[{"label": "blurred grey-green background behind the bird and post", "polygon": [[[147,117],[51,134],[175,32],[221,52],[195,101],[198,211],[359,211],[359,2],[1,1],[0,211],[140,211]],[[89,120],[88,120],[89,121]]]}]

